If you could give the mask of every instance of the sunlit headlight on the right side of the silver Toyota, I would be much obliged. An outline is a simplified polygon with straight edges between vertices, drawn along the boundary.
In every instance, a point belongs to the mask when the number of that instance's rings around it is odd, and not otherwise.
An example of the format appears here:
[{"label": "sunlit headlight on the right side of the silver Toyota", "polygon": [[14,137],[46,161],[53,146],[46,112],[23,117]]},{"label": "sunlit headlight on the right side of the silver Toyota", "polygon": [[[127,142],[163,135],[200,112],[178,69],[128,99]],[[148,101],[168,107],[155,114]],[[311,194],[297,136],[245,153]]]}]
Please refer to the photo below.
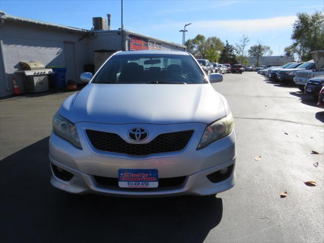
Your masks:
[{"label": "sunlit headlight on the right side of the silver Toyota", "polygon": [[204,148],[210,143],[229,135],[234,128],[232,113],[208,125],[201,137],[197,149]]}]

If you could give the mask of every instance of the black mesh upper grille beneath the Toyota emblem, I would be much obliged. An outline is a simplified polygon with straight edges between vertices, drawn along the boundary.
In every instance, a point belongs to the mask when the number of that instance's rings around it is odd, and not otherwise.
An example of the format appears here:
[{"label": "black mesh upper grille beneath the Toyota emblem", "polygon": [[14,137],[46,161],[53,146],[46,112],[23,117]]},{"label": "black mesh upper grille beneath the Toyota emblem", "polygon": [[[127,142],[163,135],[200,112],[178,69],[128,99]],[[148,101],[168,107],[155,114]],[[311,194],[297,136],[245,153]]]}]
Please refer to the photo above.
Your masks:
[{"label": "black mesh upper grille beneath the Toyota emblem", "polygon": [[95,130],[87,130],[89,140],[96,149],[124,153],[129,155],[148,155],[182,150],[189,142],[193,130],[164,133],[158,135],[149,143],[128,143],[118,134]]}]

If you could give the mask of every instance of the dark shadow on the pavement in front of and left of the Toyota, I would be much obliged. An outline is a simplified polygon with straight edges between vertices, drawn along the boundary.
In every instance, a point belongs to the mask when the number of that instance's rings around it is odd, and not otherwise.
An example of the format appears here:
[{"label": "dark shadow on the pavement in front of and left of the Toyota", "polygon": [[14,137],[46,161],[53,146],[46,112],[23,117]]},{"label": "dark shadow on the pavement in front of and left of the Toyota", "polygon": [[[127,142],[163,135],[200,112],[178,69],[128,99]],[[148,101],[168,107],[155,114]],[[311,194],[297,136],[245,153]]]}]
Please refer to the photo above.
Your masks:
[{"label": "dark shadow on the pavement in front of and left of the Toyota", "polygon": [[55,189],[48,139],[0,161],[2,242],[202,242],[221,221],[216,197],[118,198]]}]

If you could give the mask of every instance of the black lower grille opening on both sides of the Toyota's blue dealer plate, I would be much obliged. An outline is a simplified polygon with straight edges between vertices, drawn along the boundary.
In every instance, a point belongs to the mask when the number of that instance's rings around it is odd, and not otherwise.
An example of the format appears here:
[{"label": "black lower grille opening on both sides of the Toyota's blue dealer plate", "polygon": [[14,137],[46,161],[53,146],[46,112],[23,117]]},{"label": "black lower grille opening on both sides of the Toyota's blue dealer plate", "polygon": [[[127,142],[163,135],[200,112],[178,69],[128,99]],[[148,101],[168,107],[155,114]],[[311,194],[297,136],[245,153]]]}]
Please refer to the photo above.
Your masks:
[{"label": "black lower grille opening on both sides of the Toyota's blue dealer plate", "polygon": [[[99,184],[101,184],[103,186],[118,186],[118,178],[102,177],[102,176],[93,176],[93,177]],[[171,177],[171,178],[159,178],[158,179],[158,188],[180,186],[184,182],[185,179],[186,179],[185,176]],[[152,189],[152,188],[148,188],[148,189]]]}]

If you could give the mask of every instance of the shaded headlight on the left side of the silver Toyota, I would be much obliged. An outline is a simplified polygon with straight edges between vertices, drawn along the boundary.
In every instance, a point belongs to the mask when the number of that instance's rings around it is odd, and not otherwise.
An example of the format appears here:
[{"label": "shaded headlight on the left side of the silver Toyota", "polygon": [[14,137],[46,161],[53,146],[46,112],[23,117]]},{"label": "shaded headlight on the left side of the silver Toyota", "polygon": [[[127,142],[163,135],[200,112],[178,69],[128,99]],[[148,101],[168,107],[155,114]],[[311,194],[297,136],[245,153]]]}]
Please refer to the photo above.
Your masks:
[{"label": "shaded headlight on the left side of the silver Toyota", "polygon": [[53,117],[53,132],[61,138],[66,139],[74,146],[82,148],[75,125],[58,113]]}]

